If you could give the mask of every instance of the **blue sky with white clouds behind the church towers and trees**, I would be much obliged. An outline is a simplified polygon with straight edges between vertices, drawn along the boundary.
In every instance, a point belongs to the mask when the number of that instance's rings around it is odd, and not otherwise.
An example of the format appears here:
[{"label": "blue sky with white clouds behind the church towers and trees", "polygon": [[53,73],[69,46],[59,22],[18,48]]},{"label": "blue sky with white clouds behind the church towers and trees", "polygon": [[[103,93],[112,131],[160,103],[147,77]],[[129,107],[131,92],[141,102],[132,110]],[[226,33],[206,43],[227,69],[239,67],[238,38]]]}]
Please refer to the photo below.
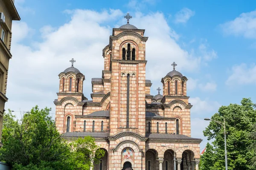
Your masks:
[{"label": "blue sky with white clouds behind the church towers and trees", "polygon": [[207,144],[205,117],[244,97],[256,102],[256,1],[15,0],[15,6],[21,20],[12,25],[5,108],[17,117],[38,105],[52,108],[54,119],[58,74],[72,58],[85,75],[83,93],[90,99],[91,78],[104,69],[102,49],[112,28],[126,24],[126,13],[149,37],[151,94],[162,87],[172,62],[189,79],[192,137],[203,139],[201,149]]}]

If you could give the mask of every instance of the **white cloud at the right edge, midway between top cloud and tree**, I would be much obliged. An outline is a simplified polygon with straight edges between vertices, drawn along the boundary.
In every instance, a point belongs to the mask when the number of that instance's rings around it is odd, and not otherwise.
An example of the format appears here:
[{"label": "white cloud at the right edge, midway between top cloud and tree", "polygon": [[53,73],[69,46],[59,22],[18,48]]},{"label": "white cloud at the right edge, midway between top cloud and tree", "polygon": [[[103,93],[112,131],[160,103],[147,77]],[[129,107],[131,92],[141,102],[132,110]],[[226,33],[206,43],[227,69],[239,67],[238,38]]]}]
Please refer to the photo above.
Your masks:
[{"label": "white cloud at the right edge, midway between top cloud and tree", "polygon": [[226,85],[244,85],[256,84],[256,65],[250,67],[242,63],[240,65],[233,65],[231,75],[226,81]]}]

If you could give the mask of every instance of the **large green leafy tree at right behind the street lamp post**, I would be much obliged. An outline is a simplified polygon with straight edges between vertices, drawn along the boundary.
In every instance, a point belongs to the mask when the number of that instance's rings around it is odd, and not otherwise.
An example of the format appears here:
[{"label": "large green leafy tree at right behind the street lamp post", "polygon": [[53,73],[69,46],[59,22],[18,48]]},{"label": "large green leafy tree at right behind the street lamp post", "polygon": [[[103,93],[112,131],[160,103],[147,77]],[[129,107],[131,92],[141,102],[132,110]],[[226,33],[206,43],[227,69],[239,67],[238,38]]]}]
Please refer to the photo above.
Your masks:
[{"label": "large green leafy tree at right behind the street lamp post", "polygon": [[[249,146],[253,139],[249,134],[256,122],[255,104],[250,99],[242,99],[241,105],[230,104],[221,106],[212,120],[226,124],[227,159],[229,170],[255,170],[250,166],[253,150]],[[202,156],[201,170],[224,170],[224,128],[217,122],[211,121],[204,130],[204,136],[213,140],[212,145],[207,144],[207,149]]]}]

